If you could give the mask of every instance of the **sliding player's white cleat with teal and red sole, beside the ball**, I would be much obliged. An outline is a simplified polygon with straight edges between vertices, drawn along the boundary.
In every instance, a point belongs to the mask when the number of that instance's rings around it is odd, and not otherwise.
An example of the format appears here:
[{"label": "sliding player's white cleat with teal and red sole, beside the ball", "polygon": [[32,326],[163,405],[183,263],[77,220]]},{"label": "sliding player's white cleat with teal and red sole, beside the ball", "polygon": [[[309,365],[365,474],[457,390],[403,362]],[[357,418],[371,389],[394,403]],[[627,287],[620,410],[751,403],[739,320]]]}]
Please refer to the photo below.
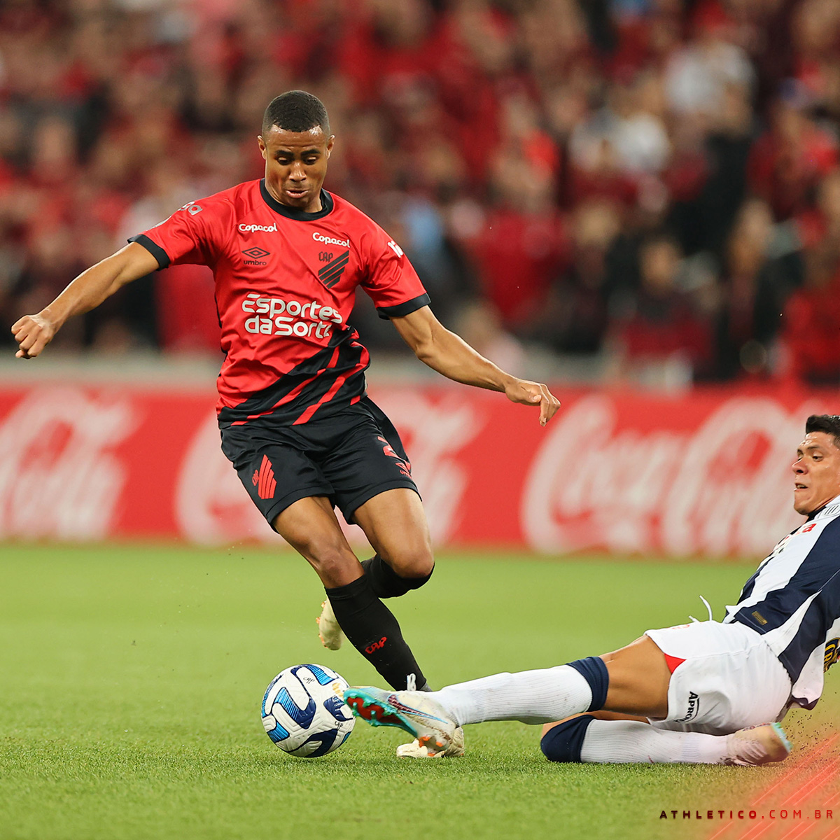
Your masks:
[{"label": "sliding player's white cleat with teal and red sole, beside the ball", "polygon": [[[349,688],[344,691],[344,702],[356,717],[371,726],[400,727],[413,735],[417,748],[426,750],[423,758],[444,753],[454,742],[458,727],[444,707],[425,691]],[[413,747],[413,744],[404,746]]]}]

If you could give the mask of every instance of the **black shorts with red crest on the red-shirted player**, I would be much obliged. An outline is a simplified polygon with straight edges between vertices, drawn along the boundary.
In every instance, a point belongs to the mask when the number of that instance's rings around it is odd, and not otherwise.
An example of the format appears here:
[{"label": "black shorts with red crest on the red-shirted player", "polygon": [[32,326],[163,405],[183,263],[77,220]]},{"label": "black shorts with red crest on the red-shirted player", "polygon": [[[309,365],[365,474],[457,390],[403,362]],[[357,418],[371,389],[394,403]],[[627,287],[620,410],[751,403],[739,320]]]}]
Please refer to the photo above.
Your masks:
[{"label": "black shorts with red crest on the red-shirted player", "polygon": [[266,418],[223,428],[222,451],[272,528],[279,513],[307,496],[328,496],[353,522],[356,508],[379,493],[418,493],[396,428],[367,397],[297,426],[272,426]]}]

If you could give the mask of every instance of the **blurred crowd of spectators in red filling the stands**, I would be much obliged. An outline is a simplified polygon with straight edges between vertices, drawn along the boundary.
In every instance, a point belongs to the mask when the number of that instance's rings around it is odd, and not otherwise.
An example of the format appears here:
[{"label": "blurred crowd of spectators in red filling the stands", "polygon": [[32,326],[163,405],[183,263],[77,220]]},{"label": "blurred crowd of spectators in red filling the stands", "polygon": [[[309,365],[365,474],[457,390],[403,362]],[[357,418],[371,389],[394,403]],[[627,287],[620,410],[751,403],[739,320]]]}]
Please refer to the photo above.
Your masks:
[{"label": "blurred crowd of spectators in red filling the stands", "polygon": [[[325,186],[501,365],[840,384],[837,0],[3,0],[0,343],[129,235],[260,177],[291,88],[330,113]],[[179,266],[56,343],[213,353],[216,330],[207,270]]]}]

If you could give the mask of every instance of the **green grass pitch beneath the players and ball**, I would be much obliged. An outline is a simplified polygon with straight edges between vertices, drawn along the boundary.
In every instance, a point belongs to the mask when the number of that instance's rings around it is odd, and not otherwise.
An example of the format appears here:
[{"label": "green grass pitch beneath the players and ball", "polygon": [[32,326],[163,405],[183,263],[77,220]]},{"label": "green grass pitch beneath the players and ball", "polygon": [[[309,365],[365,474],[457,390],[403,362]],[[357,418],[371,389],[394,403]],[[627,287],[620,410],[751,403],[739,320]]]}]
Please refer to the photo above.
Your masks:
[{"label": "green grass pitch beneath the players and ball", "polygon": [[[720,619],[753,565],[441,554],[391,604],[444,685],[704,618],[700,594]],[[260,723],[279,670],[381,682],[320,646],[322,596],[291,554],[0,546],[0,838],[701,838],[719,826],[660,812],[743,808],[781,772],[552,765],[517,722],[468,727],[464,759],[396,759],[402,732],[361,722],[338,753],[289,758]],[[829,678],[797,746],[838,709]]]}]

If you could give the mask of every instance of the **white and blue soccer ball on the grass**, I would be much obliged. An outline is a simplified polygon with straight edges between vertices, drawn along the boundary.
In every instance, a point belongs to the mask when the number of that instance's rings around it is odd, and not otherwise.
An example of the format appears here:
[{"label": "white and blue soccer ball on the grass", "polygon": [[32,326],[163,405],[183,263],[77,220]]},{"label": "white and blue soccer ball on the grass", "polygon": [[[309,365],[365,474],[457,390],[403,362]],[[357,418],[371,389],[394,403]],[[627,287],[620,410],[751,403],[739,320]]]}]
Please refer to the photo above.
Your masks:
[{"label": "white and blue soccer ball on the grass", "polygon": [[263,726],[285,753],[317,759],[338,749],[355,718],[344,702],[347,680],[323,665],[292,665],[271,680],[263,697]]}]

